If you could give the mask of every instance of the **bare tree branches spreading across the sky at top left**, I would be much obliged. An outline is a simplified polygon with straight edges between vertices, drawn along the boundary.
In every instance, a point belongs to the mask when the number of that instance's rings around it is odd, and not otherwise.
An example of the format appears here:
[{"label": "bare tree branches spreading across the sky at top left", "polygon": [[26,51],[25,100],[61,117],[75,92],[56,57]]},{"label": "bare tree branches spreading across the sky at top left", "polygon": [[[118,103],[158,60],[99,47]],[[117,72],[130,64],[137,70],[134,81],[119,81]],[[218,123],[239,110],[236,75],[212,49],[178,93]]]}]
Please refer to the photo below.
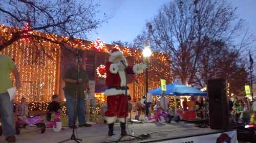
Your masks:
[{"label": "bare tree branches spreading across the sky at top left", "polygon": [[[98,6],[92,0],[2,0],[0,22],[12,28],[0,35],[0,51],[22,38],[54,43],[69,41],[56,38],[56,35],[86,38],[90,31],[106,20],[95,18],[100,12]],[[26,23],[29,28],[23,28]],[[50,35],[42,36],[35,31]]]}]

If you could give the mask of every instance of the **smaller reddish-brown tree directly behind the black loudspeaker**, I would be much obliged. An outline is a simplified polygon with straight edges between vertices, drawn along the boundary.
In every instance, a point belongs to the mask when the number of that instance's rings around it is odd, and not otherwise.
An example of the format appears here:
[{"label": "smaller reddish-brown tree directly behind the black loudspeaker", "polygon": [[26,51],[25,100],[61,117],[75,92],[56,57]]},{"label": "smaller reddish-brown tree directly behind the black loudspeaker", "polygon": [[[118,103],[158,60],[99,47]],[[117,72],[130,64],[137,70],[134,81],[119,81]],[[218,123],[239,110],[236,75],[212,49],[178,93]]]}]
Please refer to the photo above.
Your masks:
[{"label": "smaller reddish-brown tree directly behind the black loudspeaker", "polygon": [[207,79],[225,78],[230,85],[229,95],[241,95],[248,82],[245,60],[240,58],[237,49],[228,48],[225,42],[207,40],[207,47],[202,50],[199,58],[194,85],[204,87]]}]

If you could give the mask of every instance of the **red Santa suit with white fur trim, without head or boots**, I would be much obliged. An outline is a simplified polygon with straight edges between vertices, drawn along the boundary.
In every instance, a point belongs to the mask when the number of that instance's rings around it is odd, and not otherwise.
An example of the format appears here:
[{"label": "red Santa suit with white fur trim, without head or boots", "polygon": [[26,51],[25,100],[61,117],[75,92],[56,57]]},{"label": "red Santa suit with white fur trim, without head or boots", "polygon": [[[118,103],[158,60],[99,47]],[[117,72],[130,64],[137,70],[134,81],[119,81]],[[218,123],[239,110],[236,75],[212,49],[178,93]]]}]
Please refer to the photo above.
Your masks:
[{"label": "red Santa suit with white fur trim, without head or boots", "polygon": [[[122,64],[122,63],[120,63]],[[105,112],[105,120],[108,124],[114,123],[118,118],[120,122],[124,123],[124,118],[128,116],[128,102],[125,96],[125,90],[116,89],[114,87],[125,87],[126,85],[126,75],[141,73],[142,70],[139,69],[139,65],[127,66],[126,71],[119,71],[118,64],[107,62],[106,65],[106,85],[109,87],[104,92],[107,96],[108,109]],[[129,91],[127,90],[127,95]]]}]

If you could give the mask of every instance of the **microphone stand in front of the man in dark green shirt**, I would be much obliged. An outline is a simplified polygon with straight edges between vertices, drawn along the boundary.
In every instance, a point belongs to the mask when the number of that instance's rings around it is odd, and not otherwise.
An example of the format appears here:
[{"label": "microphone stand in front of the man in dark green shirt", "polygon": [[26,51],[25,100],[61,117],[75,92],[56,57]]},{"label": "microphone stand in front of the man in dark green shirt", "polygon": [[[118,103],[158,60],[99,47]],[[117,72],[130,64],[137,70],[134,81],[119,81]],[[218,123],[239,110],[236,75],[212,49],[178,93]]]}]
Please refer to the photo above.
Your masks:
[{"label": "microphone stand in front of the man in dark green shirt", "polygon": [[79,80],[79,73],[80,73],[80,56],[79,56],[79,51],[80,50],[77,50],[77,79],[76,79],[76,84],[77,84],[77,87],[76,87],[76,94],[75,94],[75,111],[74,111],[74,116],[73,116],[73,121],[74,121],[74,124],[73,124],[73,131],[72,131],[72,135],[69,139],[66,139],[66,140],[63,140],[63,141],[60,141],[60,142],[57,142],[57,143],[62,143],[62,142],[67,142],[69,140],[74,140],[76,141],[77,143],[80,143],[78,140],[82,141],[82,139],[79,139],[79,138],[76,138],[76,135],[75,135],[75,124],[76,124],[76,117],[77,117],[77,109],[78,109],[78,105],[77,105],[77,95],[78,95],[78,80]]}]

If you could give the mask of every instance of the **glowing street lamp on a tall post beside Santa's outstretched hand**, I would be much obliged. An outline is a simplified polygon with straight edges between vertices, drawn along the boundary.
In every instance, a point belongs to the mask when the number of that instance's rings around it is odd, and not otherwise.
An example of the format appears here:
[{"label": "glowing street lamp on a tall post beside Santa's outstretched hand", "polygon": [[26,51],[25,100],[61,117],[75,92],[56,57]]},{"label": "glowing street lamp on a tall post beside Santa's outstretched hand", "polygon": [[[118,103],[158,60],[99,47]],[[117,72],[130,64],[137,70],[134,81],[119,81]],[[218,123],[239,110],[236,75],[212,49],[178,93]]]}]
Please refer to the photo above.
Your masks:
[{"label": "glowing street lamp on a tall post beside Santa's outstretched hand", "polygon": [[[150,58],[151,54],[152,54],[152,51],[150,49],[150,46],[148,45],[148,43],[146,42],[146,45],[145,45],[145,48],[143,49],[142,51],[142,54],[143,54],[143,57],[145,59],[145,63],[148,65],[149,62],[148,62],[148,58]],[[148,68],[146,68],[146,81],[145,81],[145,84],[146,84],[146,99],[147,99],[147,92],[148,92]],[[146,111],[146,116],[148,116],[148,103],[145,99],[145,111]]]}]

